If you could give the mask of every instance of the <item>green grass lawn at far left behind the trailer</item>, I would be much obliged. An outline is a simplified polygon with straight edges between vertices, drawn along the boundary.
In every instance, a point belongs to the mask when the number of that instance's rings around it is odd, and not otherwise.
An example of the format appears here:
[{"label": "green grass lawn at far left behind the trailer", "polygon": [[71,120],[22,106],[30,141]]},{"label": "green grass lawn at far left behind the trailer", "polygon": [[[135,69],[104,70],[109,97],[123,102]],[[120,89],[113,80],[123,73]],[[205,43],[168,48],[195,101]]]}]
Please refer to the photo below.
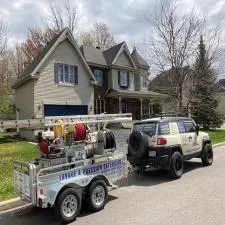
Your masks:
[{"label": "green grass lawn at far left behind the trailer", "polygon": [[19,140],[15,133],[0,133],[0,201],[16,197],[12,186],[12,162],[33,160],[37,153],[36,146]]}]

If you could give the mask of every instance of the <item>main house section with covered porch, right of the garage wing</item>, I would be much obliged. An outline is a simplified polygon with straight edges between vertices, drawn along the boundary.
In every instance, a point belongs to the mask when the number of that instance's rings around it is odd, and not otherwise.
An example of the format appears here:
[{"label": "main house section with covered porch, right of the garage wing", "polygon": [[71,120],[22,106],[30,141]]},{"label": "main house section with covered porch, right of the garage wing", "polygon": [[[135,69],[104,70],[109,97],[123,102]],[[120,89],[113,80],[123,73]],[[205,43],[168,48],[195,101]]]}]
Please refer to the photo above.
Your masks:
[{"label": "main house section with covered porch, right of the garage wing", "polygon": [[152,105],[163,103],[167,95],[148,91],[149,65],[136,49],[130,54],[125,42],[105,51],[82,46],[81,51],[97,84],[94,91],[94,112],[132,113],[142,119],[154,113]]}]

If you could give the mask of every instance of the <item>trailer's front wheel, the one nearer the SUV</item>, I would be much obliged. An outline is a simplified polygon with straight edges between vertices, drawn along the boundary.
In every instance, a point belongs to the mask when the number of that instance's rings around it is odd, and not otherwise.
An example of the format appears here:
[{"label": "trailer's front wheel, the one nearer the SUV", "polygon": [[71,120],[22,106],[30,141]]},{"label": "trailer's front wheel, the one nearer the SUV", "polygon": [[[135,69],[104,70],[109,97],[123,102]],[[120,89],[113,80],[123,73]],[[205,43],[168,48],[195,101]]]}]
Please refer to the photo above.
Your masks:
[{"label": "trailer's front wheel, the one nearer the SUV", "polygon": [[105,207],[108,200],[108,188],[103,180],[93,181],[87,190],[85,198],[86,208],[91,212],[97,212]]}]

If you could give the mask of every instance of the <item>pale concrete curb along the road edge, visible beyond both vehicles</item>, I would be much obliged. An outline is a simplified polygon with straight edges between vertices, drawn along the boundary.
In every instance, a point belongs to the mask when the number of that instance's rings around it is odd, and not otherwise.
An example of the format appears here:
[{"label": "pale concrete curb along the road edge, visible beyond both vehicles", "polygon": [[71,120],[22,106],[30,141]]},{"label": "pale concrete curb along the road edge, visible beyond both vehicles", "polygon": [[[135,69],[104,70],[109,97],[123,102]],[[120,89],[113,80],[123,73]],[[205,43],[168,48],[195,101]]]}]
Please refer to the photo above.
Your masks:
[{"label": "pale concrete curb along the road edge, visible beyond both vehicles", "polygon": [[[225,142],[214,144],[212,146],[215,148],[215,147],[220,147],[220,146],[223,146],[223,145],[225,145]],[[6,201],[2,201],[2,202],[0,202],[0,213],[3,212],[3,211],[10,210],[12,208],[24,206],[26,204],[27,204],[27,202],[21,200],[19,197],[9,199],[9,200],[6,200]]]}]

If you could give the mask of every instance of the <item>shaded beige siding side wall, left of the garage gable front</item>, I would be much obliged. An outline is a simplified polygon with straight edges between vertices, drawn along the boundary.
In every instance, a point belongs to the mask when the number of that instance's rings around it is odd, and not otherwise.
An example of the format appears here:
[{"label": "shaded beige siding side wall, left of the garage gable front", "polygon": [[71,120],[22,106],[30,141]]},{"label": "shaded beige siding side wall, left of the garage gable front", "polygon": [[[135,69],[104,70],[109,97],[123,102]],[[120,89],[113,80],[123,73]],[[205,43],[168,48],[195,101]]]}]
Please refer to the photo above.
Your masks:
[{"label": "shaded beige siding side wall, left of the garage gable front", "polygon": [[34,80],[17,87],[15,96],[19,119],[32,119],[34,116]]}]

